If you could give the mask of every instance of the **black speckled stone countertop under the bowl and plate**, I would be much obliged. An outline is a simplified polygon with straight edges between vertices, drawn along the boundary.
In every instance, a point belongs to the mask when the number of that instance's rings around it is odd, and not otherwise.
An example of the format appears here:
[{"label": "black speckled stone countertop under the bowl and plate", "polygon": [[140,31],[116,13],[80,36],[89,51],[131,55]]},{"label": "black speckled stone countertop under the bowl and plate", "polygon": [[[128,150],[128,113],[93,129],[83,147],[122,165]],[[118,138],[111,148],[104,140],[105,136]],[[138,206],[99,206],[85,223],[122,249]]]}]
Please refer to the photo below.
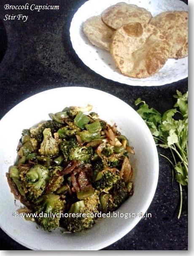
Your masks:
[{"label": "black speckled stone countertop under the bowl and plate", "polygon": [[[32,3],[32,0],[28,0]],[[0,118],[16,104],[38,92],[62,86],[86,86],[119,97],[132,108],[141,97],[164,112],[175,103],[176,89],[187,91],[188,80],[153,87],[127,86],[107,80],[86,67],[77,57],[70,42],[69,28],[73,14],[85,0],[36,0],[37,4],[60,5],[59,11],[30,13],[27,22],[4,21],[7,51],[0,62]],[[187,3],[186,0],[184,0]],[[0,25],[8,11],[0,1]],[[24,1],[15,0],[14,4]],[[10,11],[12,14],[13,11]],[[22,11],[25,14],[27,11]],[[14,11],[14,13],[21,13]],[[4,30],[0,30],[4,31]],[[5,31],[4,31],[5,32]],[[3,41],[2,41],[3,40]],[[0,37],[6,46],[6,38]],[[3,53],[0,53],[0,59]],[[127,113],[126,113],[127,114]],[[167,152],[158,149],[159,153]],[[169,154],[170,156],[170,154]],[[143,218],[131,232],[105,250],[187,250],[187,190],[184,189],[183,213],[178,220],[179,194],[172,188],[170,164],[159,156],[159,181],[148,209],[152,218]],[[174,187],[177,188],[176,184]],[[26,250],[0,230],[1,250]]]}]

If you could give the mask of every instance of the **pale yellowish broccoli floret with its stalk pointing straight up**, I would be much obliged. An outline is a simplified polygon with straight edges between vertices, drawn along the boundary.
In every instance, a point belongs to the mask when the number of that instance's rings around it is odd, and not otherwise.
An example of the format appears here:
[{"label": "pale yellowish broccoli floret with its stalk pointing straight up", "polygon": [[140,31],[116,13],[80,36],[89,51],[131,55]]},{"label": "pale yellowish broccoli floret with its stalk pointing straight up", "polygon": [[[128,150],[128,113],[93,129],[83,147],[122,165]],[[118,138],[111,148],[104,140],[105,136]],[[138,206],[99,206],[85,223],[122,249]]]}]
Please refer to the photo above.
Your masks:
[{"label": "pale yellowish broccoli floret with its stalk pointing straight up", "polygon": [[59,142],[57,138],[53,138],[51,128],[43,130],[43,142],[40,144],[39,153],[43,156],[56,156],[59,154]]}]

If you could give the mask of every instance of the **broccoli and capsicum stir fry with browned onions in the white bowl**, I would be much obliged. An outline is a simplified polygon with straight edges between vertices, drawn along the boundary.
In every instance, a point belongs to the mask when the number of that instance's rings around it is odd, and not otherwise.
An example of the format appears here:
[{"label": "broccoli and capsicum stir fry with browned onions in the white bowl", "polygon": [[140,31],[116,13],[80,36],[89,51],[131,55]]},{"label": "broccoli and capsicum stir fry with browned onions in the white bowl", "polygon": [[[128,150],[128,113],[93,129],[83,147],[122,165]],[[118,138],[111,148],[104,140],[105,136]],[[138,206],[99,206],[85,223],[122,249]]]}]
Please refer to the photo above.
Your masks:
[{"label": "broccoli and capsicum stir fry with browned onions in the white bowl", "polygon": [[[135,152],[116,124],[94,112],[84,114],[91,110],[91,105],[65,108],[23,130],[18,160],[7,178],[25,212],[107,213],[132,196],[129,154]],[[58,216],[35,221],[48,231],[62,226],[80,232],[95,224],[94,217]]]}]

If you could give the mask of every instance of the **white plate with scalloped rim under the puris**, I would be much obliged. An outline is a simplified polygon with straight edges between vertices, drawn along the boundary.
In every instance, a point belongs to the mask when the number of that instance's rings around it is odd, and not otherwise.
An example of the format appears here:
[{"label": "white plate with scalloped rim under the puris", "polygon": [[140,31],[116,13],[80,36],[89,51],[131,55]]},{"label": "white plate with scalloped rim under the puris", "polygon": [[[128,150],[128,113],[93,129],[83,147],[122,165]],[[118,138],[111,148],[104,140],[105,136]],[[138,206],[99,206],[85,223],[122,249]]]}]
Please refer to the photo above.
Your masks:
[{"label": "white plate with scalloped rim under the puris", "polygon": [[89,0],[75,13],[70,27],[70,38],[78,57],[86,66],[110,80],[137,86],[158,86],[170,84],[188,76],[188,57],[182,59],[168,59],[158,73],[148,78],[129,78],[122,75],[116,68],[111,54],[93,46],[86,38],[82,26],[91,16],[100,15],[110,5],[119,2],[135,4],[152,13],[152,16],[163,11],[188,11],[188,5],[181,0]]}]

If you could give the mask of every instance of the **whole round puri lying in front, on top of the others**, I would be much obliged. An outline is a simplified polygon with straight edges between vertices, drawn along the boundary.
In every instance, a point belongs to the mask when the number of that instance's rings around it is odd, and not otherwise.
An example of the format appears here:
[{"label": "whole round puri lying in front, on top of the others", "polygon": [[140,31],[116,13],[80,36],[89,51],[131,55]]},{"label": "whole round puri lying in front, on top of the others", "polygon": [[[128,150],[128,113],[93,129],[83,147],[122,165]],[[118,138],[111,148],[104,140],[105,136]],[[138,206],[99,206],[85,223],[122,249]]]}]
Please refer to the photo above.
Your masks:
[{"label": "whole round puri lying in front, on top of the others", "polygon": [[164,66],[169,45],[156,27],[136,22],[114,32],[110,53],[122,74],[145,78]]}]

